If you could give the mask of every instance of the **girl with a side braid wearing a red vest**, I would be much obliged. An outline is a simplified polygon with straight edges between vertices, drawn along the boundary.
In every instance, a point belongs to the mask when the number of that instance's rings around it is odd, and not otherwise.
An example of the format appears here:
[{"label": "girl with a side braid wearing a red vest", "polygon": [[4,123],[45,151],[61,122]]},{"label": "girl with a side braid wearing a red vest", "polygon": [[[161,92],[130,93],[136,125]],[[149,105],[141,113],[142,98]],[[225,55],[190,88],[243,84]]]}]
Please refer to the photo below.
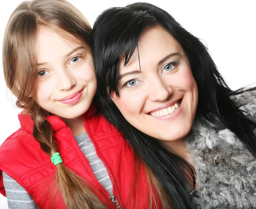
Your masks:
[{"label": "girl with a side braid wearing a red vest", "polygon": [[154,174],[94,108],[91,31],[64,0],[23,2],[9,19],[4,76],[23,108],[0,147],[10,208],[161,208]]}]

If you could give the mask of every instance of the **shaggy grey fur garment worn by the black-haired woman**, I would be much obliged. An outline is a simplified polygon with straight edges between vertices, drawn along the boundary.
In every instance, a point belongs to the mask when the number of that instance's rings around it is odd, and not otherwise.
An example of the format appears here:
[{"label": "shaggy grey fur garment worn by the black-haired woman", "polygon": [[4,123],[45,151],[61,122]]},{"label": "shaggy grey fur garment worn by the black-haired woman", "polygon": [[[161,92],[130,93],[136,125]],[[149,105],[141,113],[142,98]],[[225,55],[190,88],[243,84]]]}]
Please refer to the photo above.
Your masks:
[{"label": "shaggy grey fur garment worn by the black-haired woman", "polygon": [[[256,92],[237,96],[247,117],[256,122]],[[200,209],[256,209],[256,159],[230,130],[217,131],[195,121],[186,136],[195,165]]]}]

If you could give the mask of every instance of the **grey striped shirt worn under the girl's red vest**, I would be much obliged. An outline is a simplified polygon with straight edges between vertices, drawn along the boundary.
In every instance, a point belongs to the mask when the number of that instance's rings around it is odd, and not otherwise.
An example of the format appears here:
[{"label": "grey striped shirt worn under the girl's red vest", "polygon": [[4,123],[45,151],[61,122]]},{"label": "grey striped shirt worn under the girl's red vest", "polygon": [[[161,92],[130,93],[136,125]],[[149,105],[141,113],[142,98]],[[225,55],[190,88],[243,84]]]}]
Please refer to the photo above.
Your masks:
[{"label": "grey striped shirt worn under the girl's red vest", "polygon": [[[90,166],[99,183],[107,189],[110,195],[113,195],[111,179],[103,162],[96,155],[95,148],[86,132],[75,136],[75,139],[87,157]],[[3,185],[6,190],[6,196],[9,209],[37,209],[32,197],[26,190],[20,186],[12,177],[3,172]]]}]

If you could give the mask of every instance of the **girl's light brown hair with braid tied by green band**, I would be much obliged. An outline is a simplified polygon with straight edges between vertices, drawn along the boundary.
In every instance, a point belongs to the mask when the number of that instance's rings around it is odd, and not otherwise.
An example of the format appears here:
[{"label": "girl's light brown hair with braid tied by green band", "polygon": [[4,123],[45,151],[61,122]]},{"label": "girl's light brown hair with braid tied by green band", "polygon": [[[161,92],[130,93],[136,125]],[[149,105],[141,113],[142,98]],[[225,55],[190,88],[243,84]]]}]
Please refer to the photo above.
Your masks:
[{"label": "girl's light brown hair with braid tied by green band", "polygon": [[[36,102],[36,34],[39,26],[54,27],[90,46],[92,28],[76,7],[65,0],[33,0],[21,3],[12,13],[3,40],[3,70],[16,105],[34,121],[33,135],[52,156],[58,151],[47,113]],[[90,48],[90,47],[88,47]],[[55,192],[59,189],[68,209],[106,209],[87,183],[63,163],[56,165]]]}]

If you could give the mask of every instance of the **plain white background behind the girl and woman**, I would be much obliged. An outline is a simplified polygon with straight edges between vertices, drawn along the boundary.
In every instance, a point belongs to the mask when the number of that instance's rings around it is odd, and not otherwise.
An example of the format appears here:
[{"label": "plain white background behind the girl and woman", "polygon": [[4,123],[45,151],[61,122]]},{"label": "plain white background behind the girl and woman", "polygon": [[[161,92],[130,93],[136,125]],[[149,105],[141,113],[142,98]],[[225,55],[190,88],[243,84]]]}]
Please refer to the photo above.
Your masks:
[{"label": "plain white background behind the girl and woman", "polygon": [[[253,0],[145,0],[169,12],[193,35],[201,38],[227,84],[235,90],[256,82],[256,12]],[[0,145],[19,128],[15,98],[6,90],[2,67],[2,42],[6,23],[21,0],[2,1],[0,5]],[[136,1],[70,0],[93,26],[96,17],[112,6]],[[0,209],[7,209],[0,195]]]}]

